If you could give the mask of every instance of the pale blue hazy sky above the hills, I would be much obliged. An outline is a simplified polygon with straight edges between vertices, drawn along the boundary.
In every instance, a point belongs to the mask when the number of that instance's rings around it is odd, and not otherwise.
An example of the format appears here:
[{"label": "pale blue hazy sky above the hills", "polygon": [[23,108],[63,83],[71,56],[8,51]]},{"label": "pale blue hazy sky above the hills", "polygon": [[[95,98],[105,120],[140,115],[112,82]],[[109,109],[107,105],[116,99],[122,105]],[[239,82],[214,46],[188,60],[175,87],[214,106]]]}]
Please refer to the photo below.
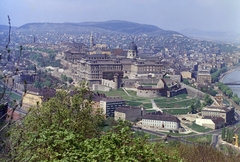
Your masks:
[{"label": "pale blue hazy sky above the hills", "polygon": [[0,24],[126,20],[240,33],[240,0],[0,0]]}]

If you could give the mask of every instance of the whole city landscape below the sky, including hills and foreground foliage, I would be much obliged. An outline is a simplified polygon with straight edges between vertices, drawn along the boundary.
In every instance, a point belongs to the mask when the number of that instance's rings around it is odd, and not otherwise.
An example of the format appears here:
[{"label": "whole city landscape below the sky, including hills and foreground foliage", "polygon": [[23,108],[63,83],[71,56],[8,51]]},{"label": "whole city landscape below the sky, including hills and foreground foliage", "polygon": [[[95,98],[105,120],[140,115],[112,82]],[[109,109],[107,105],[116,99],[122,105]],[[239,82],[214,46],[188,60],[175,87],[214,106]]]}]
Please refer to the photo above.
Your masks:
[{"label": "whole city landscape below the sky, including hills and foreground foliage", "polygon": [[238,161],[239,35],[10,16],[1,160]]}]

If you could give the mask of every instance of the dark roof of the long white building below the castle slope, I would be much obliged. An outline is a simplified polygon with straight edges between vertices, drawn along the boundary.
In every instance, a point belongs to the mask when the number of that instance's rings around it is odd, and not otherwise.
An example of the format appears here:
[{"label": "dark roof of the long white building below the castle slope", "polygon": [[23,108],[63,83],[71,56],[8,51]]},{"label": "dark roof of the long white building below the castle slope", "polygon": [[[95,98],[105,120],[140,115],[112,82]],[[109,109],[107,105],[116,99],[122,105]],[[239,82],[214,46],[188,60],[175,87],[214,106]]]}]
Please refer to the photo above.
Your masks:
[{"label": "dark roof of the long white building below the castle slope", "polygon": [[180,123],[180,120],[176,116],[173,116],[170,114],[162,114],[162,113],[145,114],[142,119],[172,121],[172,122]]}]

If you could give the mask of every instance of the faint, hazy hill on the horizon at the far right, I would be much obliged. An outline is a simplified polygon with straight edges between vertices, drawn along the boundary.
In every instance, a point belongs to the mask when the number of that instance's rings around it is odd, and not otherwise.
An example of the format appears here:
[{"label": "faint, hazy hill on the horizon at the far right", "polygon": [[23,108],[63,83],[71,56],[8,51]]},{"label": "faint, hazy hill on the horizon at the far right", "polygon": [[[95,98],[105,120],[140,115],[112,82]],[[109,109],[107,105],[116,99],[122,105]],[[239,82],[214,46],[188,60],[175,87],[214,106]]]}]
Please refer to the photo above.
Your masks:
[{"label": "faint, hazy hill on the horizon at the far right", "polygon": [[199,29],[187,28],[179,33],[191,38],[200,38],[211,41],[235,42],[240,43],[240,33],[235,32],[214,32]]}]

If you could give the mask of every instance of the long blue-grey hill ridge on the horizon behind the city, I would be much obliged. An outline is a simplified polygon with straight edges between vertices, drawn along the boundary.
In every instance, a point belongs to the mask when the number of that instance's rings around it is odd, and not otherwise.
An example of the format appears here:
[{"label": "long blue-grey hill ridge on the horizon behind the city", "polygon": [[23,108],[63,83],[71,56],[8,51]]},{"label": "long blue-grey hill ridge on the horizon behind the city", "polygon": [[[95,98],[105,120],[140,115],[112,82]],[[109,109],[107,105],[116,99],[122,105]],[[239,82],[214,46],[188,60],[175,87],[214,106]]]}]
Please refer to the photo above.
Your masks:
[{"label": "long blue-grey hill ridge on the horizon behind the city", "polygon": [[112,20],[105,22],[82,22],[82,23],[29,23],[18,28],[19,30],[32,31],[84,31],[88,30],[105,30],[120,32],[126,34],[150,34],[158,33],[161,35],[179,34],[174,31],[165,31],[154,25],[133,23],[128,21]]}]

